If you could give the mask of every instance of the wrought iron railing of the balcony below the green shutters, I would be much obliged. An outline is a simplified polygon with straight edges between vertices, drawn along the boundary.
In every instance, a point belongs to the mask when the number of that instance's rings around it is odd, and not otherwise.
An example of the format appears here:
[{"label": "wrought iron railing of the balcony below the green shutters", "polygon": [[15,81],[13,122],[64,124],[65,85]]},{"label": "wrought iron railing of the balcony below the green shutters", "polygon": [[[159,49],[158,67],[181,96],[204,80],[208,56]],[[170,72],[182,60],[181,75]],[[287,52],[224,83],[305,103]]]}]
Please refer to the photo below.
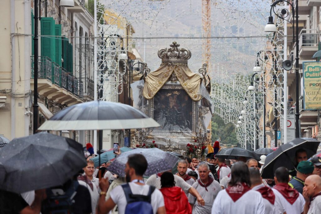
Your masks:
[{"label": "wrought iron railing of the balcony below the green shutters", "polygon": [[[31,78],[34,78],[33,62],[34,57],[31,56]],[[38,79],[47,79],[57,86],[68,90],[77,97],[83,98],[83,82],[78,81],[71,73],[55,62],[52,62],[49,57],[39,56]],[[88,84],[90,84],[90,82]]]}]

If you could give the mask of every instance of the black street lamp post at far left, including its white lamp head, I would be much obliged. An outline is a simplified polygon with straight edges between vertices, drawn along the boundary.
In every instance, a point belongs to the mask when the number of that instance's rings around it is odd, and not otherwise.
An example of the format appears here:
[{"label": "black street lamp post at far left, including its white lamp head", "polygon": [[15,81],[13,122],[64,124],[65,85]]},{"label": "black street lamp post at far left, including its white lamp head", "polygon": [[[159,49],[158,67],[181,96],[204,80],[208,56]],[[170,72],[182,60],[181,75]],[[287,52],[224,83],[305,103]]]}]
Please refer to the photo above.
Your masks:
[{"label": "black street lamp post at far left, including its white lamp head", "polygon": [[[34,1],[34,37],[33,37],[33,133],[37,133],[38,130],[38,20],[41,20],[41,10],[39,4],[42,0]],[[39,8],[38,8],[39,7]],[[74,0],[59,0],[59,7],[74,7]],[[38,15],[39,13],[39,15]]]}]

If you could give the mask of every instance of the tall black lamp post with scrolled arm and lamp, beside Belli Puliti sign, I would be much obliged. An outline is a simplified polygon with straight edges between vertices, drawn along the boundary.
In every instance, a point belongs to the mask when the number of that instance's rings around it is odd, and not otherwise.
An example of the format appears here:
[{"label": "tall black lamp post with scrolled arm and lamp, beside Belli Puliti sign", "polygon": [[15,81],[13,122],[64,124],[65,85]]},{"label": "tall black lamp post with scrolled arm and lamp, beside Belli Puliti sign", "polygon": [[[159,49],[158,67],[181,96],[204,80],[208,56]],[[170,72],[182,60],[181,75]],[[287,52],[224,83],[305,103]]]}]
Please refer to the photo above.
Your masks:
[{"label": "tall black lamp post with scrolled arm and lamp, beside Belli Puliti sign", "polygon": [[[293,44],[295,43],[296,46],[296,57],[295,57],[295,87],[296,87],[296,95],[295,95],[295,99],[296,99],[296,108],[295,108],[295,138],[299,138],[300,137],[300,130],[299,130],[299,1],[296,0],[295,4],[296,7],[294,8],[293,3],[290,3],[286,0],[277,0],[275,1],[272,5],[271,5],[271,9],[270,9],[270,16],[269,16],[269,22],[267,23],[267,25],[265,26],[265,32],[276,32],[276,26],[273,22],[273,16],[272,16],[272,10],[273,13],[275,15],[277,15],[280,19],[282,20],[286,20],[285,18],[288,16],[286,14],[289,14],[287,9],[282,9],[281,13],[282,16],[280,16],[279,14],[275,13],[274,8],[277,4],[281,3],[281,2],[285,2],[285,3],[289,3],[289,5],[291,5],[291,11],[292,11],[292,30],[293,30]],[[284,16],[286,15],[286,16]],[[295,23],[294,23],[295,21]],[[294,24],[295,24],[295,31],[294,32]],[[294,34],[295,33],[295,34]],[[295,38],[295,40],[294,40]],[[286,53],[284,53],[286,54]],[[291,66],[292,67],[292,66]],[[291,69],[291,68],[290,68]],[[290,70],[289,69],[289,70]],[[288,69],[286,69],[288,70]],[[286,99],[286,98],[284,98]]]}]

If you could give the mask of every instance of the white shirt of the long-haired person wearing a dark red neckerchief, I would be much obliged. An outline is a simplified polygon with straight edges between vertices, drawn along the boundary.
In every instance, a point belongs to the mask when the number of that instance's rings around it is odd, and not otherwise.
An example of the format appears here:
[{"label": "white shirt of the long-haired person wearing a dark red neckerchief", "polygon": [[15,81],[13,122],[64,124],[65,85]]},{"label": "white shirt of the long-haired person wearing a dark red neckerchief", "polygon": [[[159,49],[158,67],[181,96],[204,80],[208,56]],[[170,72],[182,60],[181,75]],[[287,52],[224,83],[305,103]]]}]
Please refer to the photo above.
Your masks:
[{"label": "white shirt of the long-haired person wearing a dark red neckerchief", "polygon": [[212,214],[265,214],[262,195],[254,190],[247,191],[233,201],[226,190],[220,191],[213,203]]}]

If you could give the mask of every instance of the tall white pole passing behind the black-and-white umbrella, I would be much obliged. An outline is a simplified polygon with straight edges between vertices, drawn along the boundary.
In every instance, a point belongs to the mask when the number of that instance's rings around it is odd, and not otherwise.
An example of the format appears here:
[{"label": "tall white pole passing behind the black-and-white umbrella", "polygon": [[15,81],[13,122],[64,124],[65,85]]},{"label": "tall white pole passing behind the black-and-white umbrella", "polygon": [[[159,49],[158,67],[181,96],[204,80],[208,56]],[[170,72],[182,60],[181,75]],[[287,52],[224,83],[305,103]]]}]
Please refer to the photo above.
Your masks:
[{"label": "tall white pole passing behind the black-and-white umbrella", "polygon": [[[94,0],[94,100],[97,100],[97,0]],[[94,130],[94,151],[97,151],[97,130]]]}]

